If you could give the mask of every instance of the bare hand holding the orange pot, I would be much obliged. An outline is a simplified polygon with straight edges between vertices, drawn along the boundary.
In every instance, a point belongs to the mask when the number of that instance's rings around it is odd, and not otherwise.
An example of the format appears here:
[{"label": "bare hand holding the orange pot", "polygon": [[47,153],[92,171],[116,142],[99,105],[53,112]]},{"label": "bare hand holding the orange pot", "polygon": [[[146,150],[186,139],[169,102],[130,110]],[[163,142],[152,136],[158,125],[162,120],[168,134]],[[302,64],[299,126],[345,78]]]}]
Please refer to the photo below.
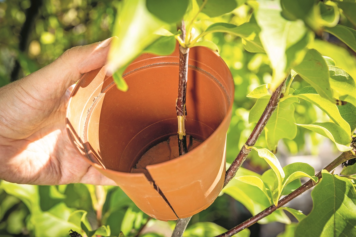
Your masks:
[{"label": "bare hand holding the orange pot", "polygon": [[71,48],[53,63],[0,88],[0,179],[116,185],[84,160],[65,127],[71,85],[85,72],[104,66],[112,38]]}]

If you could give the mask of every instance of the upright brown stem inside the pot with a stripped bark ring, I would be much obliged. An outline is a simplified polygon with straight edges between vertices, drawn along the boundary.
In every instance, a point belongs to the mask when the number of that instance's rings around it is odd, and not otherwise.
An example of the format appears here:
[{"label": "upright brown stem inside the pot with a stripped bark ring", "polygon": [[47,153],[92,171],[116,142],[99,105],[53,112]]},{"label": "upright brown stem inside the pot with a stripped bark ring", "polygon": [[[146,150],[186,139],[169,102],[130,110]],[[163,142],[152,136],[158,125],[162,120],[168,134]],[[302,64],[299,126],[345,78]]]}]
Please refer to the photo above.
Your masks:
[{"label": "upright brown stem inside the pot with a stripped bark ring", "polygon": [[[182,31],[180,38],[185,38],[185,25],[182,20],[178,28]],[[187,153],[187,138],[185,135],[185,116],[187,109],[185,107],[185,97],[187,95],[187,81],[188,81],[188,57],[189,48],[184,48],[179,44],[179,84],[178,84],[178,98],[176,100],[176,110],[178,117],[178,148],[179,156]]]}]

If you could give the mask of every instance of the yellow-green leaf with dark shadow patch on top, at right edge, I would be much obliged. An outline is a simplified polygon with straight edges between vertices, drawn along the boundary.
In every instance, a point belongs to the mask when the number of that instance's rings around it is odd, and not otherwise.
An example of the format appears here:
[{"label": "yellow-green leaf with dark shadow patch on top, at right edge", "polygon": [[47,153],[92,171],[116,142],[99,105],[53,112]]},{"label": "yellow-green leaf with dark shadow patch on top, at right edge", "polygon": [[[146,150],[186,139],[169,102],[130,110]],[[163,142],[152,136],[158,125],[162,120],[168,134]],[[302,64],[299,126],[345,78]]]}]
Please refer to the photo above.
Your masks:
[{"label": "yellow-green leaf with dark shadow patch on top, at right edge", "polygon": [[329,66],[331,88],[339,95],[340,100],[356,105],[356,84],[354,79],[343,69]]}]

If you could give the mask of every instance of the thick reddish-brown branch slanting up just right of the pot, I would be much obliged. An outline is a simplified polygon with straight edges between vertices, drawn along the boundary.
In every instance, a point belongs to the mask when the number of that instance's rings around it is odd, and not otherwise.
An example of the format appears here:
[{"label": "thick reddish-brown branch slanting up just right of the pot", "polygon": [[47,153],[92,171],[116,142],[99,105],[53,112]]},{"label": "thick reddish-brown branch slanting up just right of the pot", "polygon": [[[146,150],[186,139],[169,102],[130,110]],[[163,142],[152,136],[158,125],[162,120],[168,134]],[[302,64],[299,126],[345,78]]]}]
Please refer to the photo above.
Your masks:
[{"label": "thick reddish-brown branch slanting up just right of the pot", "polygon": [[[288,76],[286,77],[286,79],[283,80],[281,85],[279,85],[277,87],[276,91],[273,92],[273,94],[272,94],[271,98],[269,99],[269,102],[265,108],[265,111],[263,111],[261,118],[258,120],[255,128],[253,129],[251,135],[248,137],[248,139],[245,143],[247,146],[254,146],[257,139],[260,137],[263,128],[265,128],[269,118],[271,118],[272,113],[277,108],[279,98],[281,97],[281,94],[282,94],[282,89],[283,89],[284,85],[286,85],[286,81],[287,81],[288,77],[289,77],[289,73],[288,73]],[[251,149],[246,149],[245,146],[242,146],[242,148],[241,148],[239,154],[236,156],[234,162],[232,162],[229,169],[227,169],[227,171],[226,171],[224,187],[226,186],[227,183],[230,182],[230,180],[232,178],[234,178],[237,170],[241,167],[242,162],[244,162],[246,160],[246,157],[247,157],[248,153],[250,153],[250,151],[251,151]]]}]

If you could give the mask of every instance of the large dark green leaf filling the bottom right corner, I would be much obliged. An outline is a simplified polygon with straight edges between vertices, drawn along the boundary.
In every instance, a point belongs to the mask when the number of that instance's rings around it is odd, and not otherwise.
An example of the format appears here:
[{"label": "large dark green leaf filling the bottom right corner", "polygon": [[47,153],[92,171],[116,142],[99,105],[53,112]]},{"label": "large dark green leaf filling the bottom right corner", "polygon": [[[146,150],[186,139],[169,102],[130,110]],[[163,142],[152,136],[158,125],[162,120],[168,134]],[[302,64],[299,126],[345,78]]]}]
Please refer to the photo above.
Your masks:
[{"label": "large dark green leaf filling the bottom right corner", "polygon": [[295,237],[356,236],[356,191],[347,178],[322,171],[312,191],[313,210],[299,222]]}]

